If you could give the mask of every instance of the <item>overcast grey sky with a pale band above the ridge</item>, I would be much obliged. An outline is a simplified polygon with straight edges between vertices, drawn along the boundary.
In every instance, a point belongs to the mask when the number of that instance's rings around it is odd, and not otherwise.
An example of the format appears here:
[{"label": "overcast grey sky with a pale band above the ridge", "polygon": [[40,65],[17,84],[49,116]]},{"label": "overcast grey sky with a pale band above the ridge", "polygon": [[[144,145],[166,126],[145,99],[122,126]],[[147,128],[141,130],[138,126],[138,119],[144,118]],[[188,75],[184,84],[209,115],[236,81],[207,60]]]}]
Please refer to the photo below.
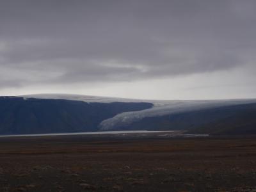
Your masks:
[{"label": "overcast grey sky with a pale band above the ridge", "polygon": [[254,0],[1,0],[0,95],[256,98]]}]

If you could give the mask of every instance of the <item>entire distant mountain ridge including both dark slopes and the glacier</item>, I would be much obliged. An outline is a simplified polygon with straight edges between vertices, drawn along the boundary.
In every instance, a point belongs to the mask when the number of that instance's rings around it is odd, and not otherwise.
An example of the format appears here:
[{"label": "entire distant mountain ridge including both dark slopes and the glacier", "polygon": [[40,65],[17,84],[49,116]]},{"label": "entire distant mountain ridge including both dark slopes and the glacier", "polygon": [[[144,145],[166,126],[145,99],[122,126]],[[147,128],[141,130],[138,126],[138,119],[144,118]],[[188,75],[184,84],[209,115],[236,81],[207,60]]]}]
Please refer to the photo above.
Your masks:
[{"label": "entire distant mountain ridge including both dark slopes and the glacier", "polygon": [[[0,97],[0,134],[186,130],[256,134],[256,100],[153,101],[52,95]],[[40,97],[43,97],[42,95]],[[37,96],[36,96],[37,97]],[[86,102],[90,100],[90,102]],[[97,100],[99,102],[93,102]],[[124,100],[124,102],[114,102]]]}]

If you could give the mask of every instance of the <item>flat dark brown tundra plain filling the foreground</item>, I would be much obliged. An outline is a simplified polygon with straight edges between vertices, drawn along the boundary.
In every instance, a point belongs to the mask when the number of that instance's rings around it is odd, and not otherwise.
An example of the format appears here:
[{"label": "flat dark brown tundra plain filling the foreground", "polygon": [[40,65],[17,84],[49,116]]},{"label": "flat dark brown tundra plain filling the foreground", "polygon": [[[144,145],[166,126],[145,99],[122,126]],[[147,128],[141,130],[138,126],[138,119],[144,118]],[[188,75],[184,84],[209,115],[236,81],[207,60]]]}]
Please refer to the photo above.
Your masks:
[{"label": "flat dark brown tundra plain filling the foreground", "polygon": [[256,191],[256,137],[0,138],[0,191]]}]

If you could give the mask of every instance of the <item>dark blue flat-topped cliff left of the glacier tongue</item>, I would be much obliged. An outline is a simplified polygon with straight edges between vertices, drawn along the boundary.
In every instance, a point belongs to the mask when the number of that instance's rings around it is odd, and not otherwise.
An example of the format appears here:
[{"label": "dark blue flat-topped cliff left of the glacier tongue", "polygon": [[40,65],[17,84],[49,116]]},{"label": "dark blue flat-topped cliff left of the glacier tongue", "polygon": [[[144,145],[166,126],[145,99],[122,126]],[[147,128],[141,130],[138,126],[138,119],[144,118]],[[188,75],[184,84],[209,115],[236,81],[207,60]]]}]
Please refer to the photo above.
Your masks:
[{"label": "dark blue flat-topped cliff left of the glacier tongue", "polygon": [[0,134],[98,131],[102,120],[152,108],[147,102],[83,102],[0,97]]}]

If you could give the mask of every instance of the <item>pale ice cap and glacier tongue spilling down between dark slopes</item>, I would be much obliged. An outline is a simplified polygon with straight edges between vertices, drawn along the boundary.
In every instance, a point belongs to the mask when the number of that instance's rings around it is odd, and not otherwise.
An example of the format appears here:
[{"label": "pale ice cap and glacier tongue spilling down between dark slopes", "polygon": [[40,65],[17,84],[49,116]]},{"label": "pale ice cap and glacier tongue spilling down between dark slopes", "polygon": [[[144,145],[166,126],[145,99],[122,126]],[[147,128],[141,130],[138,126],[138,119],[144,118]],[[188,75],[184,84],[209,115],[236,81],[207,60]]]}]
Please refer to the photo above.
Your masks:
[{"label": "pale ice cap and glacier tongue spilling down between dark slopes", "polygon": [[154,104],[153,108],[141,111],[131,111],[120,113],[113,118],[106,119],[100,123],[102,131],[112,129],[113,127],[122,126],[136,122],[142,118],[150,116],[163,116],[193,111],[195,109],[209,109],[221,106],[232,106],[236,104],[256,103],[256,99],[229,99],[229,100],[142,100],[142,99],[124,99],[115,97],[98,97],[91,95],[68,95],[68,94],[37,94],[37,95],[20,95],[24,99],[66,99],[81,100],[84,102],[150,102]]}]

